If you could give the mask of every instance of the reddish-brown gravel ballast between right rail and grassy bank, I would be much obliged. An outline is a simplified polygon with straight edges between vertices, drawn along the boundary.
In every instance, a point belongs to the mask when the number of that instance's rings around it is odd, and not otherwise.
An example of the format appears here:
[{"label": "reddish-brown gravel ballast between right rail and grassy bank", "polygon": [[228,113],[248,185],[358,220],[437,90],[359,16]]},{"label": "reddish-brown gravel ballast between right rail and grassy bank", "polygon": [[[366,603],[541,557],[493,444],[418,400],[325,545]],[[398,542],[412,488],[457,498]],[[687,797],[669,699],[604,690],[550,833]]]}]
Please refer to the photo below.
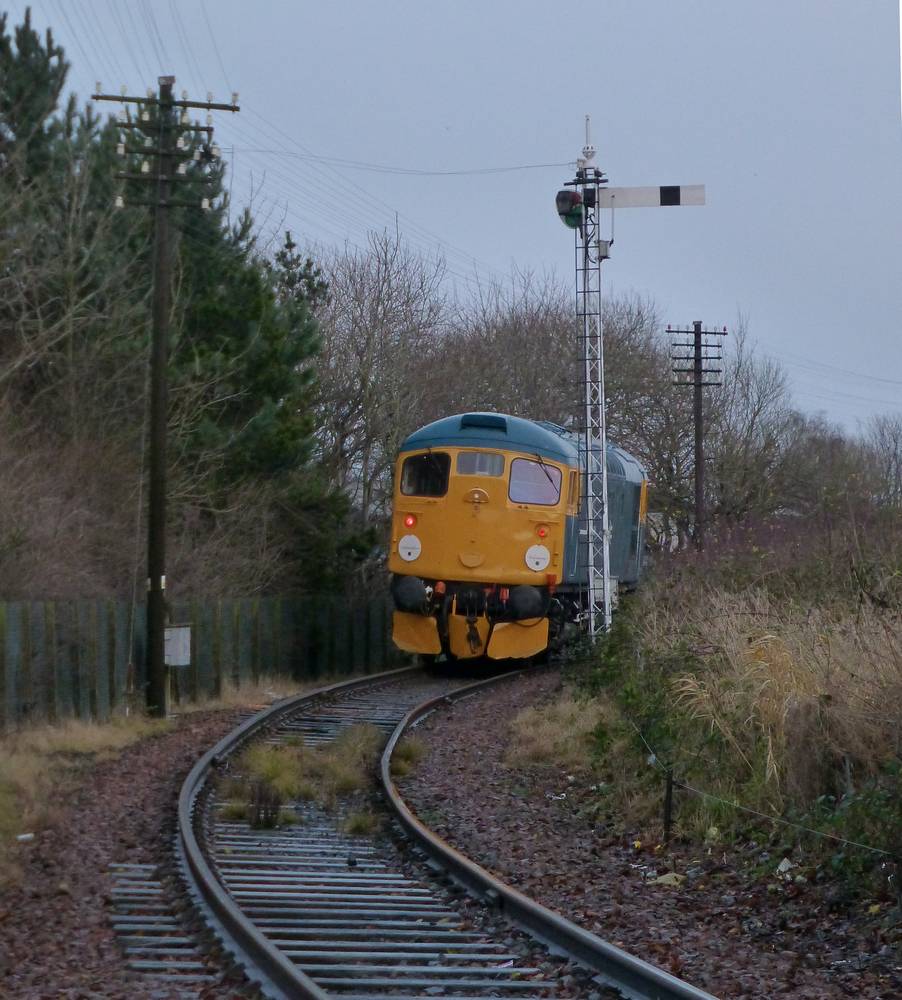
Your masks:
[{"label": "reddish-brown gravel ballast between right rail and grassy bank", "polygon": [[[594,825],[591,779],[508,767],[508,720],[559,686],[556,674],[528,675],[424,720],[426,755],[398,783],[422,821],[508,884],[716,996],[902,997],[899,941],[861,919],[866,904],[850,912],[829,885],[753,878],[730,849],[637,850]],[[686,875],[680,885],[653,881],[671,870]]]}]

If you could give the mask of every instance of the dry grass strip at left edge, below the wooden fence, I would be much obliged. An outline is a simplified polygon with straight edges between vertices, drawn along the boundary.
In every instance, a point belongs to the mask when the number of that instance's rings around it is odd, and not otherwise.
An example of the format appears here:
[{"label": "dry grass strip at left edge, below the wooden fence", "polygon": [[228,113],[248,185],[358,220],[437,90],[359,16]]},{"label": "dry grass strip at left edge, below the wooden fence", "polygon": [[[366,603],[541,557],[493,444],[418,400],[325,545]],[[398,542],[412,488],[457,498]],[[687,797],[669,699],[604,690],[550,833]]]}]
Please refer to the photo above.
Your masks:
[{"label": "dry grass strip at left edge, below the wooden fence", "polygon": [[15,838],[51,824],[54,803],[68,798],[86,769],[168,728],[162,720],[131,716],[39,726],[0,740],[0,885],[18,875]]}]

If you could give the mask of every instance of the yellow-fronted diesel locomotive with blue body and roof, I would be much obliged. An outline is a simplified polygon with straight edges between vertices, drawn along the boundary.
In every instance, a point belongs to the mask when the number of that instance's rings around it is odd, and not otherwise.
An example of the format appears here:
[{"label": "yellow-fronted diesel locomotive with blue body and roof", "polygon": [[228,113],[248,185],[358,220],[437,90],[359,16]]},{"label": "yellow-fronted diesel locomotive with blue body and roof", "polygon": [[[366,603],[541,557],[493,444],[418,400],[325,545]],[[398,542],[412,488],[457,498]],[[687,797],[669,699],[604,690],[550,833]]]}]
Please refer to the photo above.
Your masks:
[{"label": "yellow-fronted diesel locomotive with blue body and roof", "polygon": [[[642,569],[647,477],[608,446],[611,576]],[[392,635],[427,662],[542,653],[584,611],[583,449],[503,413],[436,420],[401,445],[388,568]]]}]

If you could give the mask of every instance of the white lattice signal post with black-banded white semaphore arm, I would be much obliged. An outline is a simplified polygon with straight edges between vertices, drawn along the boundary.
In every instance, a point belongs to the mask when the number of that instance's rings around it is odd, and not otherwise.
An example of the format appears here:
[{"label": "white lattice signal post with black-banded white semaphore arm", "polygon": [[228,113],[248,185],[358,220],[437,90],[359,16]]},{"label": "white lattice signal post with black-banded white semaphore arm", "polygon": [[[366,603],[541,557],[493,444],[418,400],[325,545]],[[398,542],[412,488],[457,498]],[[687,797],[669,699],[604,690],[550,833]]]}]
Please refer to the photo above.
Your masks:
[{"label": "white lattice signal post with black-banded white semaphore arm", "polygon": [[[582,346],[584,391],[580,413],[584,421],[586,495],[581,518],[586,539],[587,626],[594,640],[611,626],[612,591],[608,518],[607,424],[604,390],[604,331],[602,321],[601,265],[614,244],[614,211],[617,208],[652,208],[668,205],[704,205],[702,184],[666,187],[607,187],[607,178],[592,162],[595,147],[586,115],[586,144],[576,161],[576,176],[558,191],[558,215],[575,233],[576,313]],[[602,209],[611,210],[611,238],[601,235]]]}]

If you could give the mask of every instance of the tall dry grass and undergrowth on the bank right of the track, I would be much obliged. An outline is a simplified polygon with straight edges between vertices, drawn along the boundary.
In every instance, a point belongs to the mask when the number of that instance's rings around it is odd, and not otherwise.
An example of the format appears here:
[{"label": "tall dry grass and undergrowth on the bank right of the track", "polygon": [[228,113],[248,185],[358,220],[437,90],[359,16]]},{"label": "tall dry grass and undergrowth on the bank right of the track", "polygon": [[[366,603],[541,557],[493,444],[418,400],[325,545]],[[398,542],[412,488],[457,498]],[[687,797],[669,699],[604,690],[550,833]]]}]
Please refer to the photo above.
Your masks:
[{"label": "tall dry grass and undergrowth on the bank right of the track", "polygon": [[[687,836],[803,836],[758,812],[902,856],[898,513],[787,520],[659,558],[573,673],[612,713],[622,801],[670,766],[709,793],[678,794]],[[631,819],[659,825],[660,799]],[[884,860],[825,839],[806,849],[856,871]]]}]

